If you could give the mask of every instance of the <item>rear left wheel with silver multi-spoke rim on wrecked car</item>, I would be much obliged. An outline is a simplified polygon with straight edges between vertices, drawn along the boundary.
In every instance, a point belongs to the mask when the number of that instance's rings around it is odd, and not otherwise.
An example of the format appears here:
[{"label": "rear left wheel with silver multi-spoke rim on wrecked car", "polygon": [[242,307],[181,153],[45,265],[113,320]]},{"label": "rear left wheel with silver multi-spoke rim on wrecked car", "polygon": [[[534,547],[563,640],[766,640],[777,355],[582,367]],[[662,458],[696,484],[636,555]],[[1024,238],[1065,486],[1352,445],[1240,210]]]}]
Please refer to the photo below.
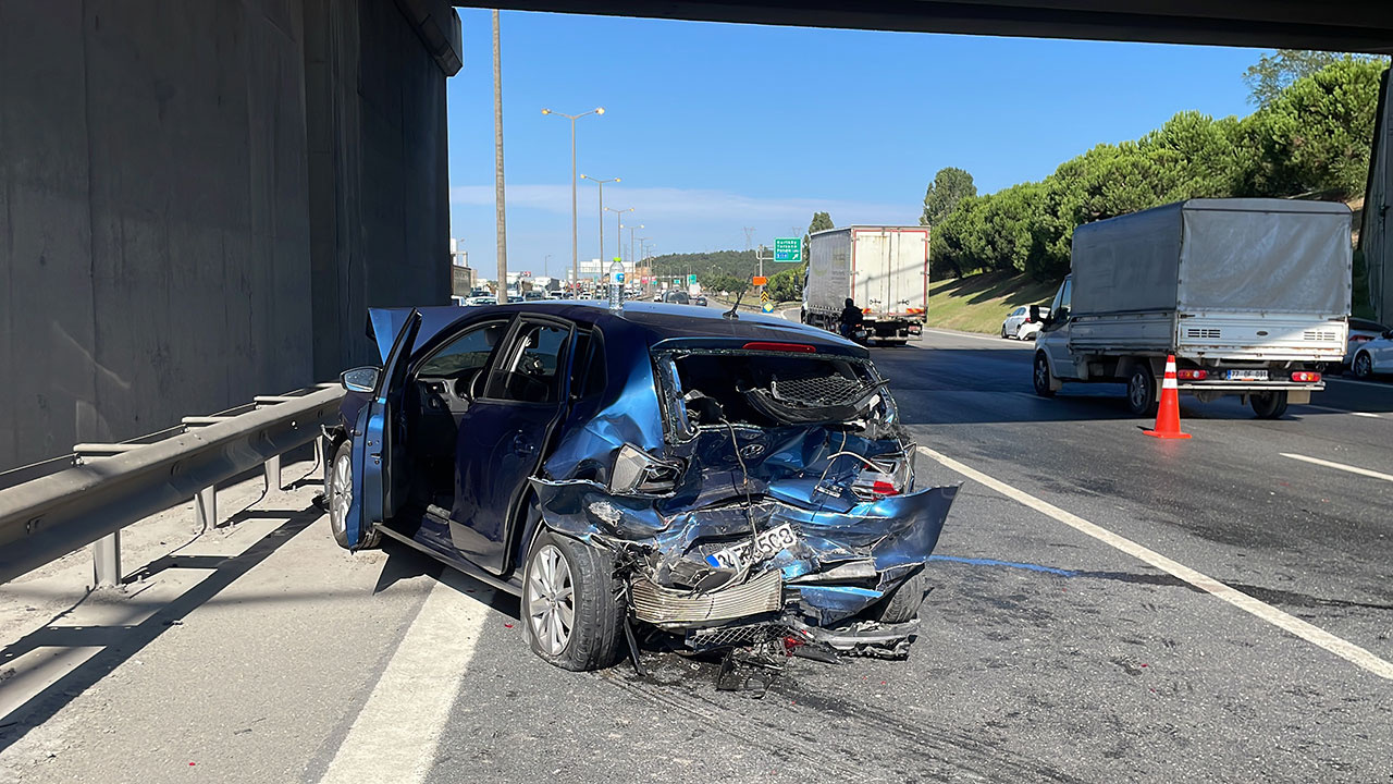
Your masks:
[{"label": "rear left wheel with silver multi-spoke rim on wrecked car", "polygon": [[607,552],[543,530],[528,550],[521,612],[532,651],[561,670],[603,670],[618,661],[624,605]]}]

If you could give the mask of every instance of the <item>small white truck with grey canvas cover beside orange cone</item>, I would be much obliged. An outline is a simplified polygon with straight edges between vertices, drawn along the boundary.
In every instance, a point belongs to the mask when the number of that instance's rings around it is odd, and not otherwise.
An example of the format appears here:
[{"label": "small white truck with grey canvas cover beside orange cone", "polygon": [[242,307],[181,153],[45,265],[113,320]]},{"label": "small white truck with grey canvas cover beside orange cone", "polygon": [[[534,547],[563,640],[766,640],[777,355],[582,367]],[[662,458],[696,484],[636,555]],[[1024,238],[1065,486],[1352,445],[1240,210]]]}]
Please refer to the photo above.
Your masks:
[{"label": "small white truck with grey canvas cover beside orange cone", "polygon": [[1181,393],[1241,395],[1262,419],[1323,389],[1344,356],[1350,209],[1266,198],[1190,199],[1080,226],[1070,276],[1035,342],[1035,392],[1124,382],[1155,413],[1176,356]]}]

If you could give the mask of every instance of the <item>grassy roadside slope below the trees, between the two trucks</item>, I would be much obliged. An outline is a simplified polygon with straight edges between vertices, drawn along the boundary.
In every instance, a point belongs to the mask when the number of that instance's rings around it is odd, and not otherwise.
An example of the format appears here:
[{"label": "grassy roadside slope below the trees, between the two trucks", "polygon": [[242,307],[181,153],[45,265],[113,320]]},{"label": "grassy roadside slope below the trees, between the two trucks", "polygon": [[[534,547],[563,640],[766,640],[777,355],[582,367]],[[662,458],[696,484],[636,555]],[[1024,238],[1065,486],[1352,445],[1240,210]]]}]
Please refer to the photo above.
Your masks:
[{"label": "grassy roadside slope below the trees, between the two trucks", "polygon": [[1006,314],[1020,306],[1048,306],[1057,282],[1041,283],[1025,275],[989,272],[929,283],[929,326],[999,333]]}]

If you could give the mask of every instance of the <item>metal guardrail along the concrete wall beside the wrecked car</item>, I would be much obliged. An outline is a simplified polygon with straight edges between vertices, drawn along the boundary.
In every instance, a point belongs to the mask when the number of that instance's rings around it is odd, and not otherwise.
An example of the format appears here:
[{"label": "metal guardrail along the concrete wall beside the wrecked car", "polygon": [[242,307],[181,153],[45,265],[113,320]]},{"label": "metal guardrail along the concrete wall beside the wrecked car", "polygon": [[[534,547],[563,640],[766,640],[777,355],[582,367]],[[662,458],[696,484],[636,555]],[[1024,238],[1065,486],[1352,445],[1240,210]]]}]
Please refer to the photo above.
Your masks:
[{"label": "metal guardrail along the concrete wall beside the wrecked car", "polygon": [[0,490],[0,583],[98,543],[96,585],[116,585],[125,526],[192,498],[213,527],[217,483],[256,466],[279,487],[280,456],[313,441],[344,395],[337,384],[299,392],[185,417],[160,441],[78,444],[78,465]]}]

